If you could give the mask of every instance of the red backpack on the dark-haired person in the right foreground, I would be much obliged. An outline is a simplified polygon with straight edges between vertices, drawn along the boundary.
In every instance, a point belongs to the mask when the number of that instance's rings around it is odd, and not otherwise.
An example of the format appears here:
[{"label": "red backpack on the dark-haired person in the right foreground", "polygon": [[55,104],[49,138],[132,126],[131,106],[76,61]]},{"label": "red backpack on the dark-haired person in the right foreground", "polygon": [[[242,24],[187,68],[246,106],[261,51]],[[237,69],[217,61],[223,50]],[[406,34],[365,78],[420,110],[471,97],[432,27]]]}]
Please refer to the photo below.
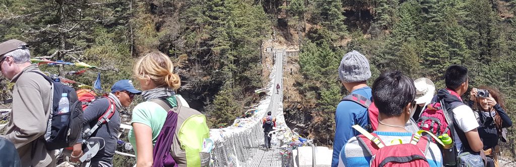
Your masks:
[{"label": "red backpack on the dark-haired person in the right foreground", "polygon": [[376,133],[359,125],[352,127],[361,133],[357,140],[372,155],[369,166],[430,166],[425,156],[430,144],[426,137],[413,134],[410,143],[385,145]]}]

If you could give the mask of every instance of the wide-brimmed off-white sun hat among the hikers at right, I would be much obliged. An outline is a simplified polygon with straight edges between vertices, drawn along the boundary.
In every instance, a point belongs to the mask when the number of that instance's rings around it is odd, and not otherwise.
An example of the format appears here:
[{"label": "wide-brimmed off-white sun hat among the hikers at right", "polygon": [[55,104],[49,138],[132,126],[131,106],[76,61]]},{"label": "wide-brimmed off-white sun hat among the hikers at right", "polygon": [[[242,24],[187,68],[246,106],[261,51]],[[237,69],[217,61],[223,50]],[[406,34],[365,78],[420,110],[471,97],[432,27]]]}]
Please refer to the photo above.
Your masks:
[{"label": "wide-brimmed off-white sun hat among the hikers at right", "polygon": [[436,91],[436,86],[428,78],[419,78],[414,80],[414,86],[416,87],[416,103],[427,104],[433,98],[433,93]]}]

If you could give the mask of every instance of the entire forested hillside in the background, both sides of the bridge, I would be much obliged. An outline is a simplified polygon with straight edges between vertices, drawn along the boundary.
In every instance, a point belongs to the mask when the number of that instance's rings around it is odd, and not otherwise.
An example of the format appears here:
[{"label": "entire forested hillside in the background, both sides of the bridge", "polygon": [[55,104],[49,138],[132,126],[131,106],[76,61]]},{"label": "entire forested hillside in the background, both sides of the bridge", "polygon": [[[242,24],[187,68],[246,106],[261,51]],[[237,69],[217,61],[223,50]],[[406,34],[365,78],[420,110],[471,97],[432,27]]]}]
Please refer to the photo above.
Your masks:
[{"label": "entire forested hillside in the background, both sides of the bridge", "polygon": [[[299,47],[285,78],[287,121],[331,146],[335,107],[347,93],[337,68],[352,50],[369,58],[369,82],[400,70],[443,88],[446,67],[465,65],[470,86],[500,89],[516,119],[515,7],[513,0],[0,0],[0,40],[26,41],[41,59],[96,65],[82,75],[42,68],[90,85],[101,72],[105,90],[133,78],[133,59],[157,49],[175,62],[179,94],[215,127],[260,99],[253,90],[267,83],[262,45],[275,39]],[[0,87],[8,98],[10,85]]]}]

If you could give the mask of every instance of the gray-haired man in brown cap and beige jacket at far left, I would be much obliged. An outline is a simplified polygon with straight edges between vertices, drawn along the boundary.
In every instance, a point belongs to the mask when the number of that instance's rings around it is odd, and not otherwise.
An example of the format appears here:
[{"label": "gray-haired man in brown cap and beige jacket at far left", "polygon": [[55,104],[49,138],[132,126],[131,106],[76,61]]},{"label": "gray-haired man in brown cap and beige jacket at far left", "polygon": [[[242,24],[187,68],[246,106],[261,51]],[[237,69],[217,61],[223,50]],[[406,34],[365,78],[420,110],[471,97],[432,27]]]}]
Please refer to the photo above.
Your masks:
[{"label": "gray-haired man in brown cap and beige jacket at far left", "polygon": [[55,166],[54,151],[44,135],[52,110],[52,86],[30,63],[28,45],[20,40],[0,43],[0,71],[14,83],[12,111],[5,138],[14,143],[21,166]]}]

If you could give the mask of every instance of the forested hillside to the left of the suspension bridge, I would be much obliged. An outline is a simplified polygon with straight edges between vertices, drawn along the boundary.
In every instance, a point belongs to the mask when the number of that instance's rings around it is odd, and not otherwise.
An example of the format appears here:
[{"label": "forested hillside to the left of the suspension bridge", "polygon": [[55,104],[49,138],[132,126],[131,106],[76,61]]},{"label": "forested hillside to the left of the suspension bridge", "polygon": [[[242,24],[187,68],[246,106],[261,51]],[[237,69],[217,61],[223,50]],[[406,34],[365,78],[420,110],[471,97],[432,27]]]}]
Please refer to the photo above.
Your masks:
[{"label": "forested hillside to the left of the suspension bridge", "polygon": [[[179,94],[212,126],[232,122],[259,99],[253,90],[267,82],[260,51],[270,29],[253,1],[0,1],[0,40],[23,40],[36,58],[98,66],[69,75],[83,69],[41,65],[86,85],[100,72],[109,91],[115,81],[133,78],[134,58],[166,53],[181,76]],[[1,83],[5,99],[9,87]]]}]

